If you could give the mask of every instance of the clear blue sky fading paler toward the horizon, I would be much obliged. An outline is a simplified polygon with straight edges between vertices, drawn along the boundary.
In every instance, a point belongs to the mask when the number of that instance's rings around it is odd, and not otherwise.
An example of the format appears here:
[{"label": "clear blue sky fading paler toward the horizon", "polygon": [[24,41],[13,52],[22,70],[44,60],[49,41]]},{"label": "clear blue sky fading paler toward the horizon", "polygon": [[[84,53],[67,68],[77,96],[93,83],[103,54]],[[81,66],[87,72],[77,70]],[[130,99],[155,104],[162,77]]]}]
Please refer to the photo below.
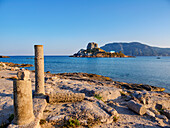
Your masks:
[{"label": "clear blue sky fading paler toward the horizon", "polygon": [[170,0],[0,0],[0,55],[70,55],[88,42],[170,47]]}]

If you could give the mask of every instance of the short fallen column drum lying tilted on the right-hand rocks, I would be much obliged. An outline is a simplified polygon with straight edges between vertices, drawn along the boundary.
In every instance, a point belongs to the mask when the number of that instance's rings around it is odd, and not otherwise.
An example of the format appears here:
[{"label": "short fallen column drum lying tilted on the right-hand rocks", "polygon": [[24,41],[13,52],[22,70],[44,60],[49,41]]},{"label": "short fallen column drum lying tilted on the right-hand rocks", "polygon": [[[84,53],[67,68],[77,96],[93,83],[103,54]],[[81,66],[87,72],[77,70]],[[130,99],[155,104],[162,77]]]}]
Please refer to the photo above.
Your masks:
[{"label": "short fallen column drum lying tilted on the right-hand rocks", "polygon": [[129,109],[131,109],[132,111],[138,113],[139,115],[144,115],[146,113],[145,106],[135,102],[134,100],[130,100],[127,103],[127,106],[128,106]]}]

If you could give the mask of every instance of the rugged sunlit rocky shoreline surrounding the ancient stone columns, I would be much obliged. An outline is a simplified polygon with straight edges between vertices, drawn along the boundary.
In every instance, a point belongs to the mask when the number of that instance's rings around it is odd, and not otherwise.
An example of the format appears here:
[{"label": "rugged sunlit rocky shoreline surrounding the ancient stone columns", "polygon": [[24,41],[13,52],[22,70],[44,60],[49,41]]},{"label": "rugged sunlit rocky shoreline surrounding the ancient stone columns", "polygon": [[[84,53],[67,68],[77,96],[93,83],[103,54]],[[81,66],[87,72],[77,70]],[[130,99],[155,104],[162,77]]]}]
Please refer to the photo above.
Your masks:
[{"label": "rugged sunlit rocky shoreline surrounding the ancient stone columns", "polygon": [[[20,68],[16,67],[0,63],[1,127],[6,127],[5,124],[10,123],[9,118],[12,118],[13,85],[9,78],[17,79],[16,74]],[[34,91],[35,74],[33,71],[30,73]],[[96,74],[45,73],[47,96],[55,99],[56,94],[60,97],[69,94],[66,97],[74,96],[75,98],[74,100],[66,99],[67,102],[59,100],[49,102],[43,111],[40,124],[42,128],[169,127],[170,94],[163,92],[164,90],[164,88],[150,85],[113,81],[109,77]],[[133,105],[130,105],[131,102],[135,103],[135,108],[144,114],[131,109],[133,108]]]}]

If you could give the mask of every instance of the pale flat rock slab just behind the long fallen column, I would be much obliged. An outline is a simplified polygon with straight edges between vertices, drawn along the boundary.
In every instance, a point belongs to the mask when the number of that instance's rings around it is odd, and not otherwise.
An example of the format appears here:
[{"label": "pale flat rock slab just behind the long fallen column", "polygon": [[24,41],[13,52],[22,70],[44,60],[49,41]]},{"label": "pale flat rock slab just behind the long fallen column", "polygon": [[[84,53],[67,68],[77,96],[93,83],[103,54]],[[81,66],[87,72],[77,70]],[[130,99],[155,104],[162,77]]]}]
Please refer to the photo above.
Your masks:
[{"label": "pale flat rock slab just behind the long fallen column", "polygon": [[[72,91],[74,93],[84,93],[86,96],[99,95],[103,101],[114,100],[121,96],[121,89],[107,86],[90,85],[87,82],[80,82],[76,80],[58,79],[53,80],[53,85],[46,87],[48,94],[54,92],[60,92],[62,90]],[[57,86],[56,86],[57,85]],[[48,88],[48,89],[47,89]]]}]

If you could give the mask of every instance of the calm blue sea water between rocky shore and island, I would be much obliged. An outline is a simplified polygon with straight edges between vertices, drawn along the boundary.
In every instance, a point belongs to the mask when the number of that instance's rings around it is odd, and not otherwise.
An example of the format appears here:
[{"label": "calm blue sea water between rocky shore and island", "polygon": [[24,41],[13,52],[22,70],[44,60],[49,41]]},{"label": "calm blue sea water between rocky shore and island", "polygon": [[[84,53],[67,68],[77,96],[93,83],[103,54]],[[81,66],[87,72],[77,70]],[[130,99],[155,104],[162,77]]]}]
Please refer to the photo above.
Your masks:
[{"label": "calm blue sea water between rocky shore and island", "polygon": [[[0,58],[2,62],[34,64],[31,56]],[[34,70],[34,67],[28,68]],[[115,81],[143,83],[170,92],[170,57],[71,58],[45,56],[45,71],[51,73],[86,72],[111,77]]]}]

